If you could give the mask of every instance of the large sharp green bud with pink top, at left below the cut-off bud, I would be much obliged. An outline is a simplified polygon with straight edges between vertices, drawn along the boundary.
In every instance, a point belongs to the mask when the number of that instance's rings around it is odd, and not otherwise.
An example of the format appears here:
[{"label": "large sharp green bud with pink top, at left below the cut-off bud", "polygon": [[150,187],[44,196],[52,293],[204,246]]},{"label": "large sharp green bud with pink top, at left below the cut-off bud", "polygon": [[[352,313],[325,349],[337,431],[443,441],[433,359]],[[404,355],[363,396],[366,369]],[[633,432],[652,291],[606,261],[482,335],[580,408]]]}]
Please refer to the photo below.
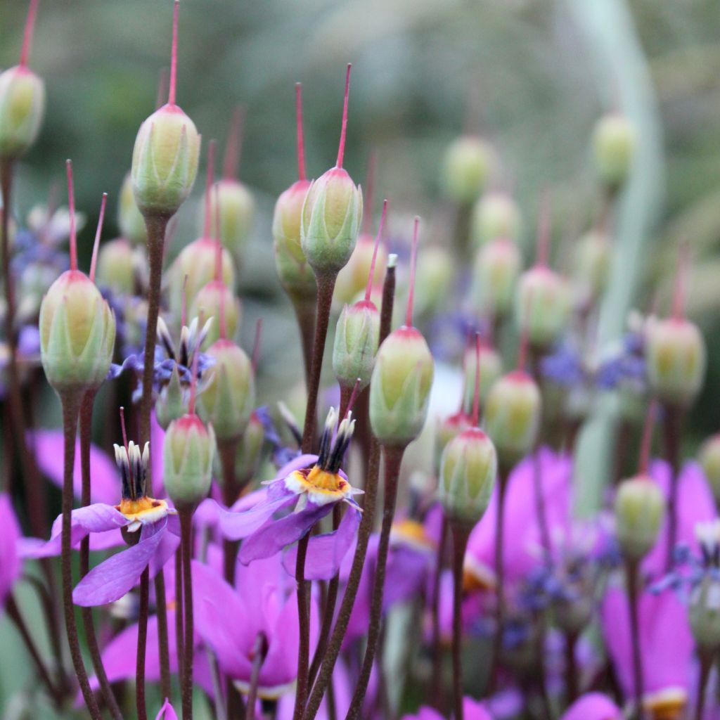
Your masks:
[{"label": "large sharp green bud with pink top, at left below the cut-off bud", "polygon": [[40,356],[58,393],[97,387],[107,376],[115,343],[115,318],[94,282],[64,272],[40,305]]}]

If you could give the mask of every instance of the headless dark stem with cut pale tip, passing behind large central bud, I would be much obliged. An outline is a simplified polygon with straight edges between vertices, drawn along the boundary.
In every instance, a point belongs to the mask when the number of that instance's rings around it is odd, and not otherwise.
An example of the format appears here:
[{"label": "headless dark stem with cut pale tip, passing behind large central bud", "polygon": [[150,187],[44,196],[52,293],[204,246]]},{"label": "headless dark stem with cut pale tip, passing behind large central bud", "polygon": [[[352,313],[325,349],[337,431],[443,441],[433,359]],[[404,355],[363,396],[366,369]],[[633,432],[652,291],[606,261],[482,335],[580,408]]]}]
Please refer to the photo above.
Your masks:
[{"label": "headless dark stem with cut pale tip, passing behind large central bud", "polygon": [[[385,282],[382,288],[382,307],[380,308],[380,334],[379,341],[382,343],[390,334],[392,323],[392,307],[395,301],[395,266],[387,269]],[[360,578],[365,564],[367,546],[372,534],[375,522],[375,505],[377,504],[377,480],[380,472],[380,444],[377,438],[372,436],[368,452],[367,476],[365,480],[365,494],[363,495],[363,515],[358,529],[358,539],[355,546],[355,555],[350,569],[350,575],[345,586],[343,601],[338,612],[333,634],[330,636],[328,649],[323,657],[323,665],[320,666],[320,673],[315,686],[307,701],[307,708],[303,720],[312,720],[318,714],[320,703],[323,701],[325,690],[330,686],[333,677],[333,669],[338,660],[343,639],[348,629],[350,616],[355,604]]]}]

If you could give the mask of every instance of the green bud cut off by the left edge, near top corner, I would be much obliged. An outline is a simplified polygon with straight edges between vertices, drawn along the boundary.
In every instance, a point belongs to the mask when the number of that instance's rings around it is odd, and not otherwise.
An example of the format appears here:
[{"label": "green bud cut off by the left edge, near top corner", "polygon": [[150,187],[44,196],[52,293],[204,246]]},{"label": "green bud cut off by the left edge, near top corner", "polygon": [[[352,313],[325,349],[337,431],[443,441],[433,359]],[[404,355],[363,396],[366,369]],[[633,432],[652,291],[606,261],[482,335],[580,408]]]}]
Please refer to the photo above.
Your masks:
[{"label": "green bud cut off by the left edge, near top corner", "polygon": [[45,114],[45,84],[27,66],[0,73],[0,158],[13,160],[35,143]]}]

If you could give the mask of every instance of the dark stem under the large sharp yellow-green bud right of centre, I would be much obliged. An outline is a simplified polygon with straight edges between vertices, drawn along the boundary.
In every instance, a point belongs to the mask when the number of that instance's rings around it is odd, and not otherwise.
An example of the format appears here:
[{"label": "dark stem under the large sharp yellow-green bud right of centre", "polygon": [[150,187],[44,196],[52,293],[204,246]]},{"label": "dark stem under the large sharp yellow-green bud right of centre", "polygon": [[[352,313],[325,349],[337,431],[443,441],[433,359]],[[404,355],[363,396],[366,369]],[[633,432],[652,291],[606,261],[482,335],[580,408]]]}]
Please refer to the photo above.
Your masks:
[{"label": "dark stem under the large sharp yellow-green bud right of centre", "polygon": [[350,703],[350,709],[346,716],[347,720],[356,720],[360,717],[362,704],[367,692],[367,685],[370,680],[370,673],[377,652],[377,641],[382,625],[382,595],[385,586],[385,570],[387,567],[387,552],[390,549],[390,530],[392,520],[395,518],[395,501],[397,500],[397,480],[400,475],[400,463],[404,447],[384,447],[384,481],[385,490],[382,508],[382,526],[380,528],[380,539],[377,546],[377,565],[375,578],[372,586],[372,600],[370,602],[370,619],[367,635],[365,655],[360,670],[360,678],[355,686],[355,693]]}]

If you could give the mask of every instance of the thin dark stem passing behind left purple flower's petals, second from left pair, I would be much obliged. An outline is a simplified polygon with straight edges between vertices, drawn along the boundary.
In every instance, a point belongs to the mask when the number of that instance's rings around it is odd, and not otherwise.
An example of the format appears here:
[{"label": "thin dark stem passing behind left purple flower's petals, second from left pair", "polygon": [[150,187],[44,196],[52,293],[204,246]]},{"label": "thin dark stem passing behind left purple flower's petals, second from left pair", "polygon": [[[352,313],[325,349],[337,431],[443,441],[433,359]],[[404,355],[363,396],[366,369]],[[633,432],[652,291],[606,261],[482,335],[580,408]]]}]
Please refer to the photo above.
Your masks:
[{"label": "thin dark stem passing behind left purple flower's petals, second from left pair", "polygon": [[[80,406],[80,466],[82,474],[82,491],[80,504],[86,507],[90,504],[90,444],[92,432],[92,410],[95,402],[96,390],[88,390]],[[80,577],[85,577],[90,571],[90,536],[84,537],[80,542]],[[80,608],[80,616],[85,630],[86,644],[90,652],[95,675],[100,685],[102,697],[114,720],[122,720],[120,707],[117,705],[114,693],[107,679],[107,672],[102,662],[102,654],[97,642],[95,624],[93,622],[92,608]]]}]

